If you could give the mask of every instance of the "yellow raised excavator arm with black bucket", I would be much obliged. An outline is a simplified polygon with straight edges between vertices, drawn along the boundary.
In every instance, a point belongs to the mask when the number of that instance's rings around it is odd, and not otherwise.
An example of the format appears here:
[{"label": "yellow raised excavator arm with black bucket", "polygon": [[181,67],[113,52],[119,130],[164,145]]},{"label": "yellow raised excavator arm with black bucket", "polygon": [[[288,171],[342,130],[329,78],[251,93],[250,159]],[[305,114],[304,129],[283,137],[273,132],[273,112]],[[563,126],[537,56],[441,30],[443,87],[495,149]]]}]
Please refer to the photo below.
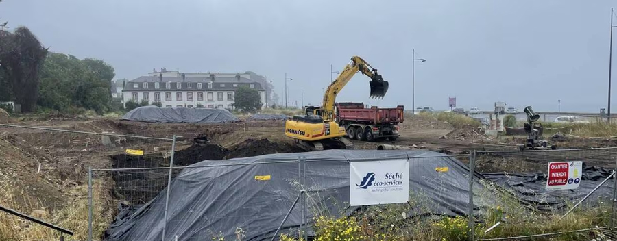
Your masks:
[{"label": "yellow raised excavator arm with black bucket", "polygon": [[337,94],[341,92],[343,87],[345,87],[350,79],[358,72],[371,78],[371,81],[369,81],[371,87],[370,97],[383,98],[385,96],[385,93],[388,91],[388,82],[383,80],[381,75],[377,73],[376,68],[370,66],[370,64],[362,58],[354,56],[351,58],[351,62],[347,64],[339,76],[337,76],[337,79],[328,86],[328,89],[324,93],[321,110],[319,110],[319,113],[315,112],[315,114],[320,114],[324,121],[333,121]]}]

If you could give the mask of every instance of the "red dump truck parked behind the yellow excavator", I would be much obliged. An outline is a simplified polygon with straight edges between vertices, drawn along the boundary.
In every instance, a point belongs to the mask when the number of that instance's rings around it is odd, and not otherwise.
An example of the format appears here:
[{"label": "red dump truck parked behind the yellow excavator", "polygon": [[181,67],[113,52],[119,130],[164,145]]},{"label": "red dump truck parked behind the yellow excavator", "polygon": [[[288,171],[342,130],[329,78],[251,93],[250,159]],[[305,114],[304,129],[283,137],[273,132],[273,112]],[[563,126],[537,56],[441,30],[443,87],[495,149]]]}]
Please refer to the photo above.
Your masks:
[{"label": "red dump truck parked behind the yellow excavator", "polygon": [[356,140],[396,140],[398,123],[404,121],[404,107],[366,108],[364,103],[337,103],[336,120],[345,127],[347,137]]}]

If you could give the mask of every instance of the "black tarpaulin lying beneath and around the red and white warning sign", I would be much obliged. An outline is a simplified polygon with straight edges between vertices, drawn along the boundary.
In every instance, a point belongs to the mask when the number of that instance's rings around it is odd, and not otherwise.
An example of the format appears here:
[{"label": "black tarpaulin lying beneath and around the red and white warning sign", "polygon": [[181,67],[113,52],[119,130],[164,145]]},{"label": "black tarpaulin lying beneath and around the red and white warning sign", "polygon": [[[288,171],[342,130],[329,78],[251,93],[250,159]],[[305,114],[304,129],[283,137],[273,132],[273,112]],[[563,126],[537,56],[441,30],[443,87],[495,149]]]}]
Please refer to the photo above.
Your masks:
[{"label": "black tarpaulin lying beneath and around the red and white warning sign", "polygon": [[[577,190],[558,190],[546,192],[546,173],[483,173],[482,175],[497,183],[499,186],[512,192],[518,199],[536,207],[538,210],[559,210],[565,208],[567,201],[582,199],[598,186],[612,170],[585,166],[583,162],[583,176]],[[588,197],[585,205],[595,205],[596,202],[611,198],[612,184],[601,186]]]}]

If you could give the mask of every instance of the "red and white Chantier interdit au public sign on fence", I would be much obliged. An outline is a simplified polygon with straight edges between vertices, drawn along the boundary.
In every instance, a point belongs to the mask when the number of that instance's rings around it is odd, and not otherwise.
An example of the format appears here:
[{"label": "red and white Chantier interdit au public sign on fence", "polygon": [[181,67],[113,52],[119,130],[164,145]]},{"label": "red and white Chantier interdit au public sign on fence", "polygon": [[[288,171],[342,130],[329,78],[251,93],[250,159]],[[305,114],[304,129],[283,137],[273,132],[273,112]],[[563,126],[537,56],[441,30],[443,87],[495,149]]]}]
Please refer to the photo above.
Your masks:
[{"label": "red and white Chantier interdit au public sign on fence", "polygon": [[568,190],[579,188],[583,175],[583,162],[550,162],[546,190]]}]

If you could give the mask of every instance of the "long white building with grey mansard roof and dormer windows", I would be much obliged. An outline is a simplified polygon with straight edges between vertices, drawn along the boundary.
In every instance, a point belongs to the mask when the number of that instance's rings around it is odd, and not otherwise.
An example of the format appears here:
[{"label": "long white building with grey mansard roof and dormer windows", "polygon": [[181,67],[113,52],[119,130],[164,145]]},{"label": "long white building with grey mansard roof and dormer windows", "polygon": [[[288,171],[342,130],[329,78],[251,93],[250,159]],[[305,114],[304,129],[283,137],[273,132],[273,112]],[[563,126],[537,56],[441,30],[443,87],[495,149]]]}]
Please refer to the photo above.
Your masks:
[{"label": "long white building with grey mansard roof and dormer windows", "polygon": [[186,73],[165,71],[149,73],[126,82],[123,102],[160,102],[163,107],[197,107],[232,109],[237,88],[254,88],[265,103],[261,84],[245,77],[248,74]]}]

